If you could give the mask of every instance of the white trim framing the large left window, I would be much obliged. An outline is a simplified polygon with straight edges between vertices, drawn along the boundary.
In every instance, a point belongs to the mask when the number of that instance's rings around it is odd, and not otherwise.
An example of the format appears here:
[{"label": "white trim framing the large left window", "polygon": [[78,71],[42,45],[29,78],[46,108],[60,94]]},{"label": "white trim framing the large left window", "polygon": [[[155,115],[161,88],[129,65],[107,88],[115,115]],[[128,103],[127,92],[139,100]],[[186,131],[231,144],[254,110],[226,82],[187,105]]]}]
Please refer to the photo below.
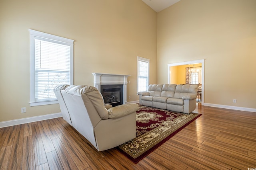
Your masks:
[{"label": "white trim framing the large left window", "polygon": [[28,29],[30,32],[30,106],[58,104],[58,100],[35,102],[35,37],[53,39],[70,44],[70,85],[74,83],[74,40]]}]

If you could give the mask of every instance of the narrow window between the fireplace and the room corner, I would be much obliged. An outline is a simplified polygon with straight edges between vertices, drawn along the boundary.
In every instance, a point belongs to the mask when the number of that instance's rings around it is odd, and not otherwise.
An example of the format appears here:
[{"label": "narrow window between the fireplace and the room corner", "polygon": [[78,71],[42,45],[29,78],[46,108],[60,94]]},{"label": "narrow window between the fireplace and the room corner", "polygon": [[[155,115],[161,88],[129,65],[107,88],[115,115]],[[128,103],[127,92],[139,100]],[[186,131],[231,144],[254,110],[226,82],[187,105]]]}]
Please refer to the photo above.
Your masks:
[{"label": "narrow window between the fireplace and the room corner", "polygon": [[138,72],[138,82],[137,90],[138,92],[147,91],[149,83],[149,59],[144,59],[142,57],[137,57],[137,72]]}]

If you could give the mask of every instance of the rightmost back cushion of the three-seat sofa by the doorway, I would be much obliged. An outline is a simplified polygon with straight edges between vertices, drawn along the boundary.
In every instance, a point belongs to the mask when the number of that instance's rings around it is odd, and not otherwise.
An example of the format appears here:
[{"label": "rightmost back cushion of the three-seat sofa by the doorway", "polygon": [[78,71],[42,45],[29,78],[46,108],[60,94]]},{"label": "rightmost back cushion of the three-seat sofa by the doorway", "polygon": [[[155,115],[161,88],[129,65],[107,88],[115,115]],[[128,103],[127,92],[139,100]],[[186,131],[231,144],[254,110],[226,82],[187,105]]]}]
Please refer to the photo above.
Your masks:
[{"label": "rightmost back cushion of the three-seat sofa by the doorway", "polygon": [[175,89],[174,98],[182,98],[187,95],[197,95],[198,86],[190,84],[178,84]]}]

